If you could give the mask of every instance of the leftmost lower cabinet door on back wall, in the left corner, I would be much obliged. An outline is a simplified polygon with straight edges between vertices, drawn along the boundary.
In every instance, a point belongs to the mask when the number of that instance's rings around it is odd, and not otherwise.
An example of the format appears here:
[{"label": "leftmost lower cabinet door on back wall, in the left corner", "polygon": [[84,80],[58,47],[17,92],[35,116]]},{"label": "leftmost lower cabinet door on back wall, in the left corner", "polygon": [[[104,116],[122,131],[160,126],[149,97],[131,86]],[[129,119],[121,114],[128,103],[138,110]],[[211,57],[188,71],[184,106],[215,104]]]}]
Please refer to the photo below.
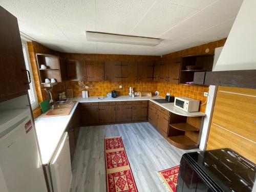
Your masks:
[{"label": "leftmost lower cabinet door on back wall, in the left corner", "polygon": [[83,106],[81,110],[81,121],[83,125],[99,123],[99,106]]}]

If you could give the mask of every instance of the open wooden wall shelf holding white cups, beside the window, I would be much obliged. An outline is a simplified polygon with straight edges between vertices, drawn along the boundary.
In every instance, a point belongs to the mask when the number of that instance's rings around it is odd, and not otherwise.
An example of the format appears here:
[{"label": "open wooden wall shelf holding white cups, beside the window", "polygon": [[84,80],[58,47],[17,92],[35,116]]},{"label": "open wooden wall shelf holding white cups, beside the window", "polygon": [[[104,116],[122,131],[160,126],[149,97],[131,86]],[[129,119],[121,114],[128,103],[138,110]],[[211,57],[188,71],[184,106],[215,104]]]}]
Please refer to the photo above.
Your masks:
[{"label": "open wooden wall shelf holding white cups, beside the window", "polygon": [[[66,80],[65,61],[56,55],[36,54],[37,66],[40,74],[40,82],[45,83],[45,79],[55,79],[57,82]],[[41,66],[46,66],[42,68]]]}]

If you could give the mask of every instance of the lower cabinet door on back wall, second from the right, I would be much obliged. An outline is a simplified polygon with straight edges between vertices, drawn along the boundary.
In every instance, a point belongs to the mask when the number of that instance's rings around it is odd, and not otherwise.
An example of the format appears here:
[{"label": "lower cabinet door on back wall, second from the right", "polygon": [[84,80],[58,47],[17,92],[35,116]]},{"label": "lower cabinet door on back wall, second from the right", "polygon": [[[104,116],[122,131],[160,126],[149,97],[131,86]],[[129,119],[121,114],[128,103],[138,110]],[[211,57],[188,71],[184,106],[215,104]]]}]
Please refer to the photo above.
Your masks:
[{"label": "lower cabinet door on back wall, second from the right", "polygon": [[124,104],[116,106],[116,122],[132,121],[132,105]]}]

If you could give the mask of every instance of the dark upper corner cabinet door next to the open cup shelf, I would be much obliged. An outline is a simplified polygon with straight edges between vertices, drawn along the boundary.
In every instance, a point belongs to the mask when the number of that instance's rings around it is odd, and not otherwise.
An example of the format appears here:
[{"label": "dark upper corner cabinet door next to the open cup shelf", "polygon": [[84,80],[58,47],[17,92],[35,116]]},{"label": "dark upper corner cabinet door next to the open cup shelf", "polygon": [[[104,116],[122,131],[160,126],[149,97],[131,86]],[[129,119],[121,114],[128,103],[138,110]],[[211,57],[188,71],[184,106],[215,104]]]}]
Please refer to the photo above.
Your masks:
[{"label": "dark upper corner cabinet door next to the open cup shelf", "polygon": [[70,81],[82,81],[85,80],[83,75],[83,63],[82,60],[65,60],[67,69],[67,80]]}]

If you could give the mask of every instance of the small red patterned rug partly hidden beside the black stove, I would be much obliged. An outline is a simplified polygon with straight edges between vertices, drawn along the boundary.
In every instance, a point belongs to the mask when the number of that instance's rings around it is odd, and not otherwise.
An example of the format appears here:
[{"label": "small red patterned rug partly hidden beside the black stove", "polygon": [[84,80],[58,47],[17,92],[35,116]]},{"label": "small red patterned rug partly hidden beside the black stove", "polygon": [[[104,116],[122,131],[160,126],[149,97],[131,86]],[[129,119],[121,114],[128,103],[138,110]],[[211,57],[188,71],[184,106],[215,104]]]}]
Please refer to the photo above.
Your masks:
[{"label": "small red patterned rug partly hidden beside the black stove", "polygon": [[176,192],[179,168],[180,165],[157,172],[159,179],[162,181],[166,190],[169,192]]}]

